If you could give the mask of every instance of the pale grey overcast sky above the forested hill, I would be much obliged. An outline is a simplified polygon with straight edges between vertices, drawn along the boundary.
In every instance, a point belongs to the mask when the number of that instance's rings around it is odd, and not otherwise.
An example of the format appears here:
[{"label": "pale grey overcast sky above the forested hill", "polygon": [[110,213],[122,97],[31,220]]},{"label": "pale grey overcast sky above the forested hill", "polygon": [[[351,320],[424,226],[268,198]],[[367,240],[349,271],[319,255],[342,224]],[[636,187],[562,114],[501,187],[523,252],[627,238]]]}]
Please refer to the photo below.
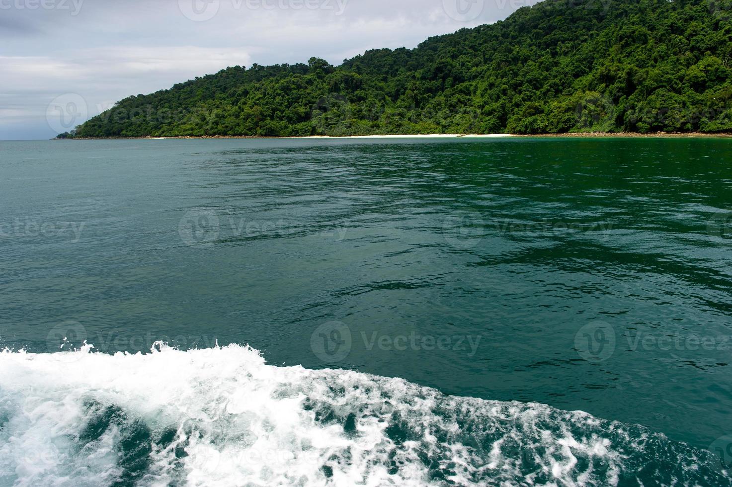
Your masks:
[{"label": "pale grey overcast sky above the forested hill", "polygon": [[[227,66],[340,64],[537,0],[0,0],[0,140],[51,138],[130,94]],[[69,103],[73,105],[69,105]]]}]

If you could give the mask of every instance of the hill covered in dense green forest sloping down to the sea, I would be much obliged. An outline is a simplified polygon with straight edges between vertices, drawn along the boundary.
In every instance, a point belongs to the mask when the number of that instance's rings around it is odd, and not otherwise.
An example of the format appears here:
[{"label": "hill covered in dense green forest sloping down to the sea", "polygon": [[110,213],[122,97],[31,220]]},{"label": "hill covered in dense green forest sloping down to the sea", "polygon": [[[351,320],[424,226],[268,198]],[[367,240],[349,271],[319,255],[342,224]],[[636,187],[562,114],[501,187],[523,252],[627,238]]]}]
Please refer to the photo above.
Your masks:
[{"label": "hill covered in dense green forest sloping down to the sea", "polygon": [[547,0],[334,67],[229,67],[80,137],[732,131],[732,0]]}]

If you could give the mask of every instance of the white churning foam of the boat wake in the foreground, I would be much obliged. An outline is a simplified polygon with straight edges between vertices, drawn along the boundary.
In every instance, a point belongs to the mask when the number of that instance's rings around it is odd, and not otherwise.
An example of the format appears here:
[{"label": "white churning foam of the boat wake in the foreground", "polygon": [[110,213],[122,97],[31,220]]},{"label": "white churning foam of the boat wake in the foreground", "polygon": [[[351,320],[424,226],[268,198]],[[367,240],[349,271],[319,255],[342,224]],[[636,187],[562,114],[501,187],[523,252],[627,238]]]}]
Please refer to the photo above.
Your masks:
[{"label": "white churning foam of the boat wake in the foreground", "polygon": [[267,365],[246,346],[0,354],[0,486],[629,482],[730,479],[640,426]]}]

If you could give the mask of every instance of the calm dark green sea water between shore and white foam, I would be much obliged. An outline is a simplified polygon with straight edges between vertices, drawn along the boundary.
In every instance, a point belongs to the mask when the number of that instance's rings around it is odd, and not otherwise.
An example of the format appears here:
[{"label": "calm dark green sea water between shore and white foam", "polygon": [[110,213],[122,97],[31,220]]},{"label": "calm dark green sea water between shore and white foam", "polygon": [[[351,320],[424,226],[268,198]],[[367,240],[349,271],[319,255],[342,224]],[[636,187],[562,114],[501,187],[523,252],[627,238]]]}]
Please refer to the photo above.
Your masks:
[{"label": "calm dark green sea water between shore and white foam", "polygon": [[[32,382],[42,369],[10,365],[20,350],[61,357],[84,341],[149,357],[156,341],[249,345],[280,371],[346,369],[641,425],[668,436],[654,451],[690,445],[661,471],[705,450],[724,469],[731,186],[732,145],[713,138],[0,142],[0,346],[13,351],[0,372]],[[18,386],[9,377],[0,394]],[[89,380],[86,393],[100,390]],[[396,444],[411,431],[400,424],[387,428]],[[23,475],[9,462],[12,485]],[[526,465],[509,481],[526,481]]]}]

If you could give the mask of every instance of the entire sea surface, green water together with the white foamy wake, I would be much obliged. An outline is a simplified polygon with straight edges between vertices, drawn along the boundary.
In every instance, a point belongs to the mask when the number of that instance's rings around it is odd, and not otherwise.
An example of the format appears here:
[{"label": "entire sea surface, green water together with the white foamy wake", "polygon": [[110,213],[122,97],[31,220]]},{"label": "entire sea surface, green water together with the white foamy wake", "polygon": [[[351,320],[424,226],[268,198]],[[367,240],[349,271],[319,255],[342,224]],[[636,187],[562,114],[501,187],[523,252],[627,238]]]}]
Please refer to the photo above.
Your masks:
[{"label": "entire sea surface, green water together with the white foamy wake", "polygon": [[0,142],[0,486],[732,485],[732,143]]}]

